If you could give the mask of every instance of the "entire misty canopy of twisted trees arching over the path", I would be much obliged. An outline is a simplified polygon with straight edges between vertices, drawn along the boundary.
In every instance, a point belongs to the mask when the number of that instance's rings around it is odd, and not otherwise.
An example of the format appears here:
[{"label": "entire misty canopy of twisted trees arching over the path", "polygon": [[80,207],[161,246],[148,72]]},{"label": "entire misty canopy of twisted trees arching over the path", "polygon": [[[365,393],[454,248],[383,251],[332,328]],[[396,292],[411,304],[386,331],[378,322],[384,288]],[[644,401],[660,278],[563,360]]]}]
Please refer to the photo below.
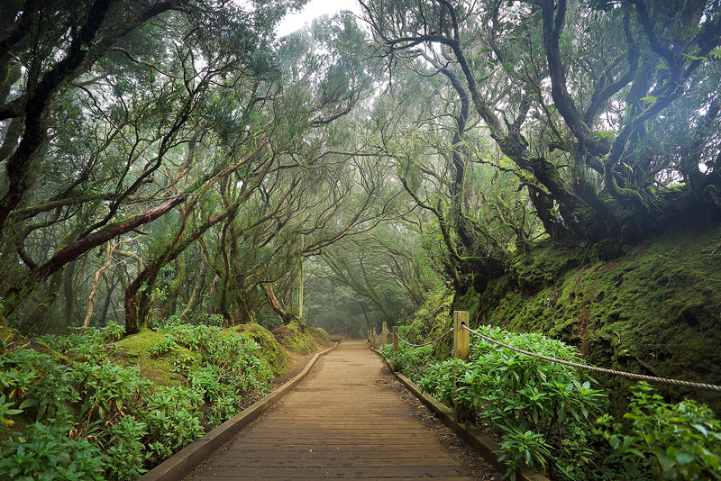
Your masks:
[{"label": "entire misty canopy of twisted trees arching over the path", "polygon": [[3,6],[4,319],[289,322],[339,283],[377,322],[539,238],[718,218],[717,2],[360,0],[277,39],[304,3]]}]

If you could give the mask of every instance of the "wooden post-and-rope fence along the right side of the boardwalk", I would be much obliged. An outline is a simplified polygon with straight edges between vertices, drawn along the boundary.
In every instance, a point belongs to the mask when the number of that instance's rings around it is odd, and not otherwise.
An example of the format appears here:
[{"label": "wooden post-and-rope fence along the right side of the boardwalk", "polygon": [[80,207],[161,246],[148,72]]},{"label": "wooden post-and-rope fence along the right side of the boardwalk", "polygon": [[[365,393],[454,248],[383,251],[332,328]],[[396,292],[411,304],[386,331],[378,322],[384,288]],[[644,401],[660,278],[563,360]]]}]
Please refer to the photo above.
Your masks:
[{"label": "wooden post-and-rope fence along the right side of the boardwalk", "polygon": [[[453,333],[453,357],[454,358],[461,358],[465,361],[468,361],[470,358],[470,340],[469,340],[469,333],[473,334],[481,339],[488,340],[488,342],[491,342],[493,344],[497,344],[498,346],[505,348],[505,349],[511,349],[514,350],[520,354],[525,354],[526,356],[532,356],[534,358],[539,358],[543,360],[547,360],[550,362],[554,362],[557,364],[564,364],[566,366],[570,366],[572,368],[580,368],[580,369],[586,369],[593,372],[598,372],[602,374],[608,374],[611,376],[620,376],[620,377],[626,377],[628,379],[633,379],[636,381],[647,381],[650,383],[660,383],[660,384],[667,384],[671,386],[682,386],[682,387],[689,387],[692,389],[703,389],[706,391],[715,391],[717,393],[721,393],[721,386],[711,385],[711,384],[703,384],[703,383],[694,383],[690,381],[680,381],[678,379],[668,379],[665,377],[654,377],[654,376],[644,376],[643,374],[635,374],[625,371],[616,371],[613,369],[606,369],[606,368],[597,368],[596,366],[589,366],[588,364],[580,364],[577,362],[571,362],[567,360],[562,359],[556,359],[556,358],[550,358],[548,356],[543,356],[541,354],[536,354],[534,352],[524,350],[524,349],[518,349],[514,346],[511,346],[507,344],[506,342],[502,342],[500,340],[495,340],[493,338],[489,338],[488,336],[485,336],[481,334],[478,331],[473,331],[468,326],[468,313],[464,311],[456,311],[453,313],[453,327],[442,334],[441,336],[437,337],[434,340],[431,340],[429,342],[425,342],[424,344],[413,344],[411,342],[408,342],[407,340],[404,340],[398,335],[398,328],[397,326],[393,327],[393,331],[388,331],[388,326],[386,322],[383,322],[383,327],[381,328],[381,334],[382,334],[382,344],[388,343],[388,337],[387,334],[390,334],[393,336],[393,350],[397,351],[398,349],[398,340],[406,344],[407,346],[410,346],[412,348],[422,348],[424,346],[428,346],[430,344],[433,344],[434,342],[438,342],[439,340],[442,340],[447,335]],[[373,349],[379,348],[379,336],[376,334],[375,329],[369,330],[369,343]]]}]

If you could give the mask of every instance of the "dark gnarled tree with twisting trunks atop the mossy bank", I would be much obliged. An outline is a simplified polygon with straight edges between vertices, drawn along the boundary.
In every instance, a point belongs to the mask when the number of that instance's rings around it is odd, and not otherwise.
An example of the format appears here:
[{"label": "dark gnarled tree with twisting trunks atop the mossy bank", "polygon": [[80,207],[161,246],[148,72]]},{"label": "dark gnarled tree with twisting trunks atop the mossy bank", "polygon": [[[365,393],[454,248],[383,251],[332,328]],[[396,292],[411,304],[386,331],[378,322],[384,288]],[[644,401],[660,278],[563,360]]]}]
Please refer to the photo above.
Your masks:
[{"label": "dark gnarled tree with twisting trunks atop the mossy bank", "polygon": [[455,91],[454,186],[476,115],[553,240],[617,252],[689,210],[717,213],[716,3],[360,3],[389,72]]}]

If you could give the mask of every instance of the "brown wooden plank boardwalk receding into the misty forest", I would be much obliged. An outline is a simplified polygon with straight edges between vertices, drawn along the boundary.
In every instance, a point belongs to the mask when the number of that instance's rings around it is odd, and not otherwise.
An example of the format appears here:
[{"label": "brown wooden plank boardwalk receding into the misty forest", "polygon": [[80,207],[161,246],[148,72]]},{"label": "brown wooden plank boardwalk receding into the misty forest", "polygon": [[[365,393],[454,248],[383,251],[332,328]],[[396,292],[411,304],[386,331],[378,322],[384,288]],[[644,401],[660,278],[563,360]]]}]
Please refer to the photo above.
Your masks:
[{"label": "brown wooden plank boardwalk receding into the misty forest", "polygon": [[470,481],[406,404],[378,386],[382,368],[364,342],[343,342],[194,480]]}]

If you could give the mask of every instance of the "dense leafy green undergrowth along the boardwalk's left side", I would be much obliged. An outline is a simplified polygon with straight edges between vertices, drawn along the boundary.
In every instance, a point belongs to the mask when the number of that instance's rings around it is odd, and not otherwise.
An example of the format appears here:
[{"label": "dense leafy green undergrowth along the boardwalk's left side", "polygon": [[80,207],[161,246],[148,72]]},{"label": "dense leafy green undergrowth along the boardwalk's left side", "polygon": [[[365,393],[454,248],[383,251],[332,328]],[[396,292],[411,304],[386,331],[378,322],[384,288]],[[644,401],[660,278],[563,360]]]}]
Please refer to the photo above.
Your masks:
[{"label": "dense leafy green undergrowth along the boardwalk's left side", "polygon": [[258,344],[233,331],[169,321],[152,350],[200,352],[178,358],[184,386],[156,386],[137,367],[111,359],[123,328],[110,324],[68,337],[45,336],[12,349],[0,344],[0,422],[23,427],[5,440],[0,479],[137,479],[150,467],[269,392],[272,373]]}]

